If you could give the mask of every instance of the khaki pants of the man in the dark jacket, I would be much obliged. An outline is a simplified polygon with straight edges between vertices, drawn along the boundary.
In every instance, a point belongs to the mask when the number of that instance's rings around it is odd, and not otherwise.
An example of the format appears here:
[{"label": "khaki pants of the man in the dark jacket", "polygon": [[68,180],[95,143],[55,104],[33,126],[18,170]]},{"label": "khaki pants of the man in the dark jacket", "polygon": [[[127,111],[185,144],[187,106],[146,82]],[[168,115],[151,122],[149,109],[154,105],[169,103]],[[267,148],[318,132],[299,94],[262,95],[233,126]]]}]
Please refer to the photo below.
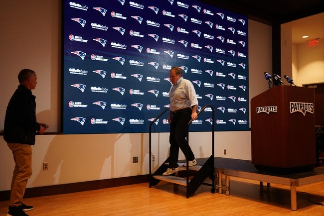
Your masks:
[{"label": "khaki pants of the man in the dark jacket", "polygon": [[7,143],[12,151],[15,163],[12,180],[9,206],[20,206],[26,190],[27,181],[31,176],[31,145]]}]

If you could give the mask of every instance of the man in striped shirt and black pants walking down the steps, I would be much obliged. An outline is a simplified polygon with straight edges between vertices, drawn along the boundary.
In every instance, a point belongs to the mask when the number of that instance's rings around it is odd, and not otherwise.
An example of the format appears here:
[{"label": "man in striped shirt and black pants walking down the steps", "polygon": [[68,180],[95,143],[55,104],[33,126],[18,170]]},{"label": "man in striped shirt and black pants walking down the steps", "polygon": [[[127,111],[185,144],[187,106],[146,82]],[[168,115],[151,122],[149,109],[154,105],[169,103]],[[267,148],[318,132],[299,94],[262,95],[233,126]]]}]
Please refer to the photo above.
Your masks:
[{"label": "man in striped shirt and black pants walking down the steps", "polygon": [[[162,174],[171,175],[179,171],[178,156],[179,148],[188,160],[188,166],[197,164],[194,154],[186,141],[188,133],[188,122],[197,119],[198,100],[192,83],[183,79],[182,69],[171,68],[169,72],[172,86],[169,91],[170,113],[167,121],[170,124],[170,152],[169,167]],[[183,166],[186,166],[185,163]]]}]

